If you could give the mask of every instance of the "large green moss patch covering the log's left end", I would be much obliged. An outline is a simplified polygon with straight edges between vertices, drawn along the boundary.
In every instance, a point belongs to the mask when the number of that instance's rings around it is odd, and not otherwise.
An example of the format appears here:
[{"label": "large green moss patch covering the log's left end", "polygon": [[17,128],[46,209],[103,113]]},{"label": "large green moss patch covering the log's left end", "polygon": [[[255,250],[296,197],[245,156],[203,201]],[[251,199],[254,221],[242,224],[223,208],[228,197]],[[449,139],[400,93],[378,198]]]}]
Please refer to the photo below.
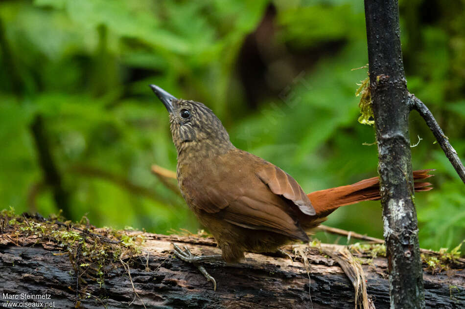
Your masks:
[{"label": "large green moss patch covering the log's left end", "polygon": [[[85,222],[86,224],[83,224]],[[11,239],[51,243],[68,254],[72,269],[70,276],[75,280],[78,276],[78,286],[81,298],[88,296],[82,292],[83,285],[95,282],[100,288],[105,285],[105,275],[114,268],[114,263],[124,259],[131,263],[132,259],[142,253],[142,235],[128,235],[124,231],[111,228],[97,229],[90,225],[87,218],[81,222],[64,221],[60,216],[50,216],[44,219],[40,215],[17,215],[13,208],[0,212],[0,228],[2,233]],[[104,290],[101,290],[104,293]],[[95,296],[93,296],[95,297]]]}]

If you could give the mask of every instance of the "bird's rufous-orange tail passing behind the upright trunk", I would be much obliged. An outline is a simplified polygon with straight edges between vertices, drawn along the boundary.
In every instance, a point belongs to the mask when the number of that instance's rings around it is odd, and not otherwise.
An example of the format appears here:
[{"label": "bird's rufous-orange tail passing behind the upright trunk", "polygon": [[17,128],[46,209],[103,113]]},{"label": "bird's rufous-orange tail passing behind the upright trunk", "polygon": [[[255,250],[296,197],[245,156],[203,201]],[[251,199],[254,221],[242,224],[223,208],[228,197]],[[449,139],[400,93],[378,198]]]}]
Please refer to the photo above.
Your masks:
[{"label": "bird's rufous-orange tail passing behind the upright trunk", "polygon": [[[418,170],[413,172],[414,181],[434,175],[428,174],[434,170]],[[415,182],[415,192],[433,189],[429,182]],[[337,208],[355,204],[364,200],[381,199],[379,193],[379,177],[368,178],[348,186],[330,188],[307,194],[315,208],[317,217],[326,217]]]}]

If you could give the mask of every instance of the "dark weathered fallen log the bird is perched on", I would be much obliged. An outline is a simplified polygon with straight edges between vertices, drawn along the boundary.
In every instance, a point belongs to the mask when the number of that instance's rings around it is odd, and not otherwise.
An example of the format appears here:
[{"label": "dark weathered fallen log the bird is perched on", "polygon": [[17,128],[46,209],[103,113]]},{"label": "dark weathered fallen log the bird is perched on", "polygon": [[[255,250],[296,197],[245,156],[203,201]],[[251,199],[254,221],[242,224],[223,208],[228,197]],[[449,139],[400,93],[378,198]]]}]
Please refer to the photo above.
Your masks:
[{"label": "dark weathered fallen log the bird is perched on", "polygon": [[[99,231],[93,229],[93,235]],[[193,254],[218,254],[220,250],[213,239],[197,235],[121,233],[143,236],[140,255],[115,258],[101,268],[103,281],[99,281],[92,279],[95,276],[86,276],[93,271],[86,269],[89,263],[79,264],[78,249],[66,250],[63,243],[44,236],[14,238],[11,230],[8,233],[3,230],[0,234],[2,297],[6,293],[50,295],[46,301],[54,302],[55,308],[144,308],[144,305],[146,308],[354,308],[351,282],[338,263],[318,247],[302,245],[295,250],[301,252],[297,257],[292,253],[293,248],[287,247],[294,261],[278,255],[248,253],[239,264],[207,264],[206,269],[218,283],[214,291],[194,265],[171,254],[171,243],[186,245]],[[302,262],[303,250],[309,262],[308,273]],[[80,254],[83,252],[81,249]],[[372,258],[370,251],[353,254],[362,261],[374,307],[389,308],[386,259]],[[79,279],[75,275],[76,265],[81,270],[77,269]],[[124,265],[129,265],[129,272]],[[465,263],[459,259],[448,268],[434,274],[424,269],[428,308],[464,308]]]}]

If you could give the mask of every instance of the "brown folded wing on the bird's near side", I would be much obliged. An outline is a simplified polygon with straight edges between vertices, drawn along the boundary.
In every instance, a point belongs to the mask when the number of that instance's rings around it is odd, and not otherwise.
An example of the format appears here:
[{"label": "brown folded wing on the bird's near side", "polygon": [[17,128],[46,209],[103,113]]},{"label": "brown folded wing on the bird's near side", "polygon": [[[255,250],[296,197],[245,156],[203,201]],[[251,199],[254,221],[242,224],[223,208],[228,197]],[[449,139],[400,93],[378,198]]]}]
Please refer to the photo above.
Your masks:
[{"label": "brown folded wing on the bird's near side", "polygon": [[226,156],[215,165],[217,168],[211,170],[209,179],[198,180],[202,182],[202,192],[194,190],[197,209],[238,226],[308,241],[297,212],[313,215],[315,211],[294,178],[245,152],[240,159]]}]

